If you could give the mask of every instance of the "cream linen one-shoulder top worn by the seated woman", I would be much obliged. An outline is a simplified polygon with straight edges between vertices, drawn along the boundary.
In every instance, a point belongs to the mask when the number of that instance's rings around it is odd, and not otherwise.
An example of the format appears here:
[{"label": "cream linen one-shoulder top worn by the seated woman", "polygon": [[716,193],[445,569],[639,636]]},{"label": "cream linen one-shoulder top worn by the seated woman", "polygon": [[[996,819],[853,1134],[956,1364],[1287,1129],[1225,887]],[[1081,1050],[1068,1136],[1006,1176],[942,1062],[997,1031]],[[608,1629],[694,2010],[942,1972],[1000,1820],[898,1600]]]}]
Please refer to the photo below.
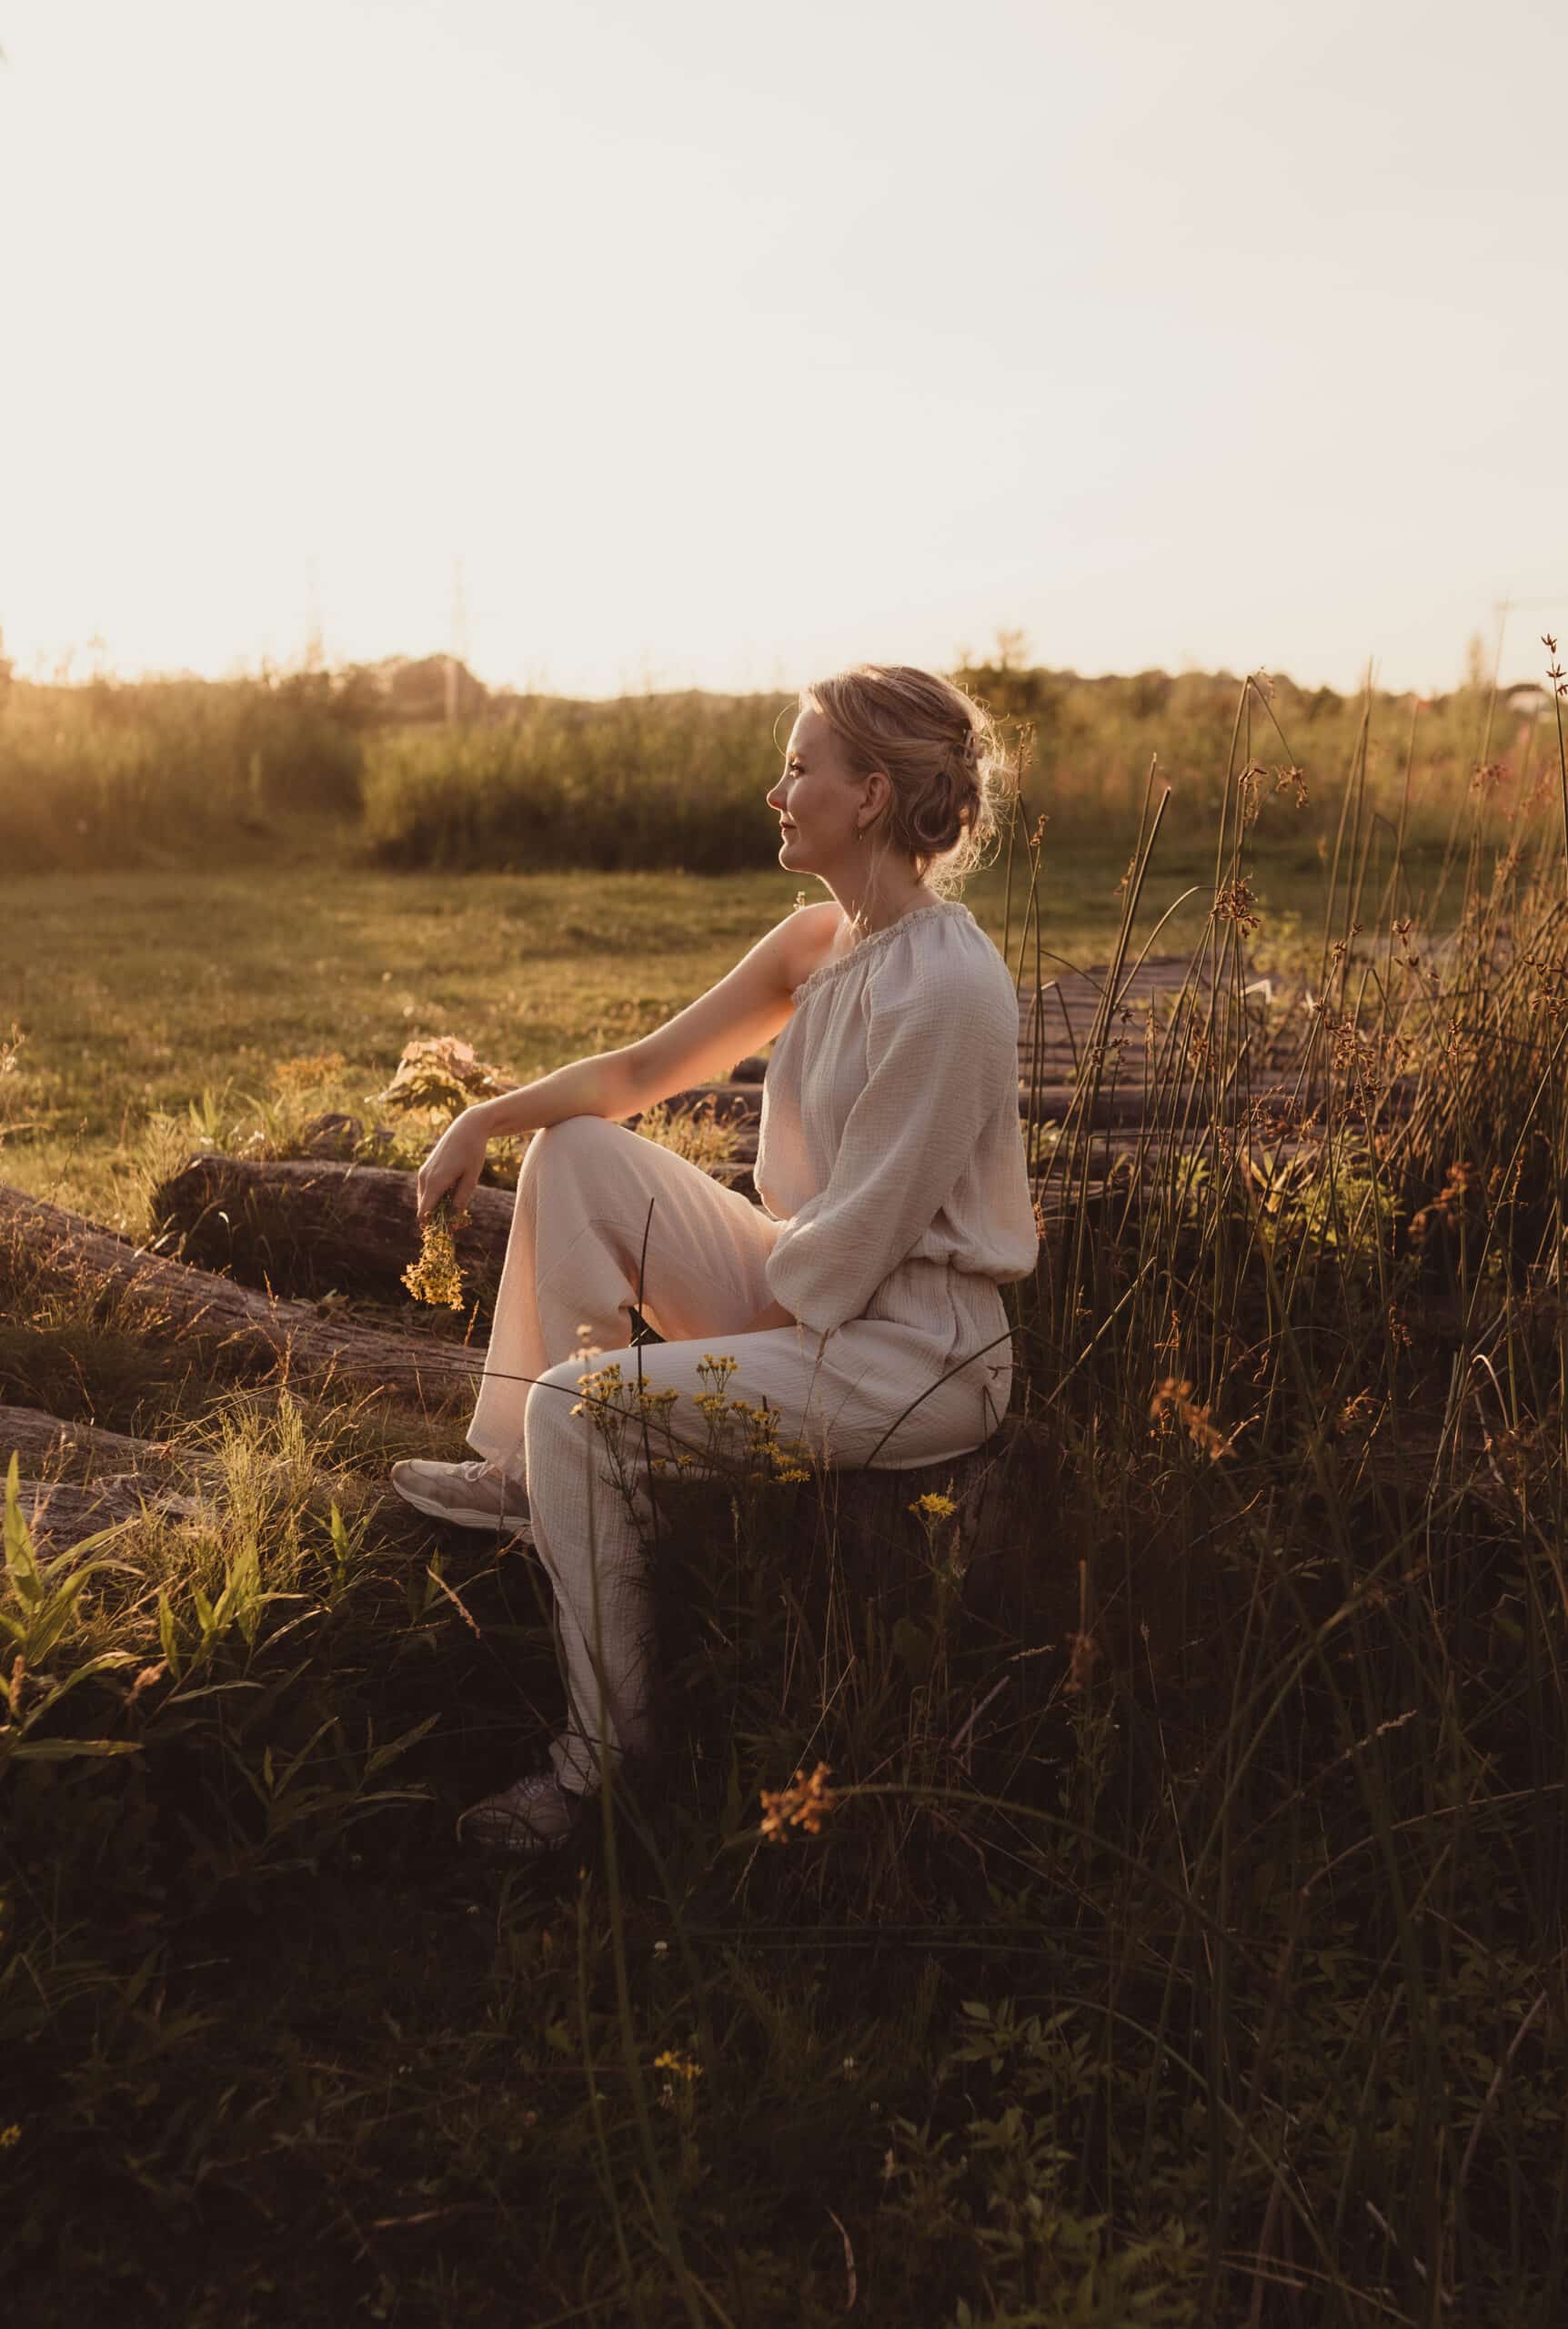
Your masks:
[{"label": "cream linen one-shoulder top worn by the seated woman", "polygon": [[794,987],[755,1183],[785,1223],[769,1288],[818,1335],[862,1318],[909,1260],[986,1279],[997,1304],[1000,1281],[1034,1269],[1018,994],[967,906],[916,906]]}]

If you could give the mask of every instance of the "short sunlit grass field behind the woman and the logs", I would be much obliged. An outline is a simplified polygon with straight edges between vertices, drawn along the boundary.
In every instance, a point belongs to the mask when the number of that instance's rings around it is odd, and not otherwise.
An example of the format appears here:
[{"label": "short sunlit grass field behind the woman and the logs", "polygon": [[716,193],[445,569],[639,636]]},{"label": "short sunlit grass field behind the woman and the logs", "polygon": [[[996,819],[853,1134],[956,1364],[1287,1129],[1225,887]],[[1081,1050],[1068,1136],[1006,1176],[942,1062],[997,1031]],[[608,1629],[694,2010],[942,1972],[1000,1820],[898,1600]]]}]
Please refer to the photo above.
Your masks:
[{"label": "short sunlit grass field behind the woman and the logs", "polygon": [[[1321,934],[1326,873],[1291,838],[1253,873],[1258,962],[1307,955]],[[1041,873],[1044,974],[1060,955],[1104,962],[1116,939],[1125,838],[1048,852]],[[1424,913],[1440,850],[1407,852],[1398,908]],[[1167,845],[1151,866],[1137,941],[1188,887],[1158,939],[1188,950],[1212,899],[1212,848]],[[1011,927],[1027,883],[1016,866]],[[203,1092],[266,1095],[273,1069],[342,1055],[322,1106],[363,1111],[412,1034],[461,1034],[517,1081],[624,1043],[720,978],[790,911],[783,873],[387,873],[336,836],[247,869],[40,873],[7,885],[0,927],[0,1034],[23,1034],[0,1085],[9,1134],[0,1176],[140,1234],[135,1158],[156,1111]],[[822,894],[811,885],[811,894]],[[1004,929],[1004,864],[967,892],[993,939]],[[1433,927],[1456,913],[1456,883]],[[1016,946],[1013,946],[1016,953]],[[1030,969],[1034,934],[1030,934]],[[0,1116],[5,1132],[7,1116]]]}]

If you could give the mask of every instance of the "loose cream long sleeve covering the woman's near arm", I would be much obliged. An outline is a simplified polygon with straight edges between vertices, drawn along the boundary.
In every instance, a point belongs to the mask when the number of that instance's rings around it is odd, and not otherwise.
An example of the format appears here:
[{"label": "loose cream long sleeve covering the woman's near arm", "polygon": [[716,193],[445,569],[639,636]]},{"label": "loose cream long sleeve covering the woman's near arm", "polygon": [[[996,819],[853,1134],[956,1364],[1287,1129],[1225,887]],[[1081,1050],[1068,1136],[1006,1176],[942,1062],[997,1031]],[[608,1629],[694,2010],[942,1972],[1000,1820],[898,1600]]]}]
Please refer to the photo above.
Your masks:
[{"label": "loose cream long sleeve covering the woman's near arm", "polygon": [[1018,1132],[1018,1006],[1002,964],[997,976],[953,981],[923,976],[906,953],[885,953],[864,985],[864,1043],[867,1083],[843,1120],[827,1185],[797,1209],[767,1262],[776,1300],[813,1332],[864,1314],[981,1146],[1007,1155],[1011,1139],[1018,1151],[993,1195],[1018,1227],[1018,1267],[997,1274],[1020,1276],[1034,1258]]}]

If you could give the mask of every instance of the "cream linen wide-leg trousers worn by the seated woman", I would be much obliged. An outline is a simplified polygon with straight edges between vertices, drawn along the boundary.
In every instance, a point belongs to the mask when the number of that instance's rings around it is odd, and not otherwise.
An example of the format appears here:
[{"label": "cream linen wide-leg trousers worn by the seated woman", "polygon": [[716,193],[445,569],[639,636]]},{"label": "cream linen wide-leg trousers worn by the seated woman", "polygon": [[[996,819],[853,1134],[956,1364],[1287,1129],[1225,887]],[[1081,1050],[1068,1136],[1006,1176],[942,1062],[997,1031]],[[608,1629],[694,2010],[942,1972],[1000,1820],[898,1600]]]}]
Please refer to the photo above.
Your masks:
[{"label": "cream linen wide-leg trousers worn by the seated woman", "polygon": [[[601,1754],[615,1763],[652,1744],[645,1470],[638,1449],[629,1498],[592,1414],[573,1414],[589,1367],[620,1360],[636,1381],[641,1360],[650,1390],[676,1393],[655,1446],[669,1446],[664,1430],[708,1444],[692,1404],[713,1388],[699,1374],[708,1353],[739,1362],[727,1397],[767,1400],[781,1439],[827,1465],[944,1463],[1007,1414],[1002,1295],[946,1262],[904,1262],[867,1316],[827,1337],[804,1325],[743,1335],[774,1302],[764,1262],[781,1230],[739,1190],[599,1116],[571,1116],[527,1148],[468,1446],[527,1486],[566,1677],[566,1730],[550,1747],[564,1786],[596,1789]],[[664,1342],[627,1346],[631,1304]],[[629,1432],[627,1449],[636,1442]]]}]

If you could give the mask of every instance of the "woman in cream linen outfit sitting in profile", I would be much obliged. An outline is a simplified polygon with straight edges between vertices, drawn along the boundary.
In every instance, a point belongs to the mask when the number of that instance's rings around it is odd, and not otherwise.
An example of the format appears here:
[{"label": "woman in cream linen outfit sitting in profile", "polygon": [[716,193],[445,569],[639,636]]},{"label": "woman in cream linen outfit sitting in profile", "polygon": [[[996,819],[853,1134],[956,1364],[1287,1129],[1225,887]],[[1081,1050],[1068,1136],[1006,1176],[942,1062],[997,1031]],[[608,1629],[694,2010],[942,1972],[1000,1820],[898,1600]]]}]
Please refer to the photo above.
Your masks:
[{"label": "woman in cream linen outfit sitting in profile", "polygon": [[[650,1747],[643,1539],[578,1344],[664,1395],[664,1446],[706,1444],[692,1402],[713,1388],[708,1353],[739,1362],[729,1397],[767,1400],[781,1435],[832,1465],[941,1463],[1007,1411],[997,1288],[1037,1246],[1018,1001],[969,908],[941,894],[995,829],[1000,776],[986,713],[927,671],[860,664],[801,689],[767,799],[781,866],[829,897],[655,1034],[466,1109],[419,1171],[419,1218],[447,1192],[461,1209],[489,1139],[538,1134],[468,1430],[478,1460],[391,1474],[436,1519],[527,1521],[555,1586],[568,1721],[545,1772],[464,1814],[485,1842],[568,1842],[603,1768]],[[617,1123],[774,1036],[762,1211]],[[631,1304],[664,1342],[622,1348]]]}]

